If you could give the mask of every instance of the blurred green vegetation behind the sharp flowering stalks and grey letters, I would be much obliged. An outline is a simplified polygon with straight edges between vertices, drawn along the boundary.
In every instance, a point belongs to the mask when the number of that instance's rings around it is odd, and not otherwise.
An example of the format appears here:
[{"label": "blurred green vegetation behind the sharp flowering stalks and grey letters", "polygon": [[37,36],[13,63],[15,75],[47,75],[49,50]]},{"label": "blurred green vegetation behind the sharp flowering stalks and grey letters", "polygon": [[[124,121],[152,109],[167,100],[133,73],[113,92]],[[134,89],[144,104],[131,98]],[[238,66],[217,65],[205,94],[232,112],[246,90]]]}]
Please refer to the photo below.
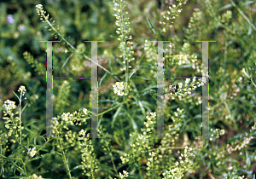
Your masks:
[{"label": "blurred green vegetation behind the sharp flowering stalks and grey letters", "polygon": [[[112,75],[98,68],[98,107],[99,113],[102,114],[99,116],[102,127],[106,129],[107,138],[110,139],[110,153],[104,153],[103,144],[99,139],[91,140],[96,159],[99,161],[99,171],[95,177],[120,177],[117,173],[123,170],[129,172],[127,178],[163,177],[164,170],[169,170],[172,166],[172,163],[165,163],[161,159],[160,156],[165,154],[158,153],[159,163],[156,165],[159,165],[160,169],[155,169],[155,176],[146,175],[148,155],[129,165],[121,162],[120,155],[131,150],[132,140],[129,134],[143,128],[146,114],[156,112],[157,45],[154,44],[147,49],[148,43],[145,40],[149,42],[155,39],[154,31],[159,32],[162,28],[163,24],[160,24],[160,21],[164,20],[163,15],[166,14],[168,7],[177,4],[174,0],[127,1],[125,9],[131,20],[129,35],[132,36],[135,57],[135,61],[131,61],[130,72],[134,69],[137,69],[137,72],[131,76],[133,91],[125,97],[125,103],[119,107],[115,105],[120,104],[124,98],[113,93],[113,84],[117,81],[114,77],[125,81],[125,72],[120,70],[122,63],[119,58],[119,41],[112,1],[1,1],[1,176],[18,178],[37,174],[44,178],[67,178],[65,165],[61,155],[58,155],[55,143],[50,141],[50,145],[44,146],[44,140],[39,137],[45,136],[46,123],[46,43],[39,41],[56,39],[49,28],[44,28],[45,23],[37,14],[35,6],[39,3],[43,4],[49,18],[55,20],[56,26],[59,26],[58,31],[84,55],[90,56],[91,48],[90,43],[84,43],[84,40],[105,41],[98,43],[98,63]],[[190,0],[183,4],[182,9],[177,18],[172,20],[172,27],[166,27],[166,32],[157,38],[172,42],[164,43],[165,77],[201,77],[201,72],[196,71],[195,67],[201,65],[201,43],[195,41],[216,40],[216,43],[209,43],[209,126],[213,130],[225,130],[225,133],[218,139],[213,138],[212,141],[201,139],[200,87],[182,100],[166,100],[166,133],[168,126],[174,124],[173,117],[177,113],[177,108],[183,109],[183,118],[179,119],[180,125],[172,133],[174,141],[166,141],[164,145],[164,140],[154,140],[152,148],[170,147],[172,150],[168,150],[166,156],[170,156],[170,159],[172,157],[175,161],[179,161],[178,156],[183,147],[195,149],[195,157],[192,159],[192,168],[195,171],[184,172],[183,178],[253,178],[253,174],[256,173],[256,2]],[[57,40],[61,38],[58,37]],[[180,62],[184,55],[188,55],[190,62]],[[198,59],[198,64],[192,63],[193,59]],[[65,61],[67,65],[62,67]],[[90,61],[84,59],[83,55],[73,53],[73,49],[63,40],[61,43],[53,43],[54,77],[90,75]],[[185,80],[165,79],[166,84],[179,82],[184,83]],[[44,146],[32,159],[24,154],[24,159],[28,161],[27,173],[21,176],[20,170],[14,170],[19,164],[13,159],[18,144],[4,142],[4,134],[8,129],[4,127],[3,119],[3,102],[11,100],[19,104],[13,91],[16,92],[20,85],[26,86],[26,101],[21,103],[22,107],[27,103],[22,113],[22,124],[27,129],[24,130],[27,135],[23,139],[24,145]],[[55,117],[82,108],[90,110],[90,79],[55,79],[53,93]],[[108,113],[104,113],[106,110]],[[84,129],[90,130],[90,122]],[[76,128],[73,131],[79,132]],[[5,147],[8,148],[4,152]],[[235,149],[231,150],[230,147]],[[93,178],[82,174],[80,151],[68,145],[66,149],[73,178]],[[232,174],[234,170],[237,171]]]}]

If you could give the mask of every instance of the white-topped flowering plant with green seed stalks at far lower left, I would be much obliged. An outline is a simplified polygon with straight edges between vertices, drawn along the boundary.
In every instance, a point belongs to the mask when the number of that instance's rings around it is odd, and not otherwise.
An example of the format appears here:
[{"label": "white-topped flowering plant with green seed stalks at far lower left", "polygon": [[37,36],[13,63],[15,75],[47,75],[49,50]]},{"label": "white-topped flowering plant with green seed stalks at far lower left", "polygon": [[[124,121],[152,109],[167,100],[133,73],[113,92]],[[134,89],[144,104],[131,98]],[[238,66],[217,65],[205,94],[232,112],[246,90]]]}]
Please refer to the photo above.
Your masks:
[{"label": "white-topped flowering plant with green seed stalks at far lower left", "polygon": [[[10,178],[10,176],[15,175],[16,170],[19,171],[21,178],[42,178],[42,176],[37,176],[36,174],[33,174],[31,172],[33,171],[27,171],[26,165],[29,164],[32,161],[32,158],[38,153],[39,150],[42,149],[41,147],[30,147],[35,146],[36,144],[31,144],[30,141],[33,140],[27,139],[27,141],[23,141],[26,138],[26,134],[22,133],[22,130],[26,129],[26,131],[32,132],[31,130],[27,129],[26,127],[22,126],[22,120],[21,115],[26,108],[23,107],[21,109],[21,101],[26,100],[26,97],[22,99],[22,97],[25,95],[26,88],[25,86],[20,86],[18,92],[20,95],[17,95],[14,91],[13,93],[19,100],[19,111],[13,112],[13,110],[16,109],[15,101],[4,101],[3,107],[4,107],[4,126],[7,129],[7,131],[1,130],[1,138],[0,138],[0,146],[1,146],[1,177],[2,178]],[[19,114],[19,116],[15,116]],[[35,137],[35,136],[34,136]],[[8,141],[11,141],[12,143],[18,143],[18,147],[15,148],[15,150],[7,155],[7,150],[9,148]],[[48,141],[47,141],[48,142]],[[47,143],[46,142],[46,143]],[[46,144],[45,143],[45,144]],[[8,171],[8,173],[7,173]],[[32,176],[30,176],[32,175]],[[37,176],[37,177],[33,177]]]}]

